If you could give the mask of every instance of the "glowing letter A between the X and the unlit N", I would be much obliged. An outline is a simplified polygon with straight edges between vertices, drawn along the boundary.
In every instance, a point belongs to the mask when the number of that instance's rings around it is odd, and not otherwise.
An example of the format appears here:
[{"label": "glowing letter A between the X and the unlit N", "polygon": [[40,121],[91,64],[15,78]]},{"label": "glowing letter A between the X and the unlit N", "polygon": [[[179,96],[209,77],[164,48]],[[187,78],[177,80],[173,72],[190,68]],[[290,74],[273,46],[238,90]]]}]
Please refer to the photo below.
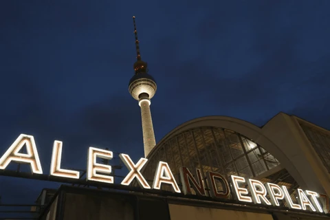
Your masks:
[{"label": "glowing letter A between the X and the unlit N", "polygon": [[175,192],[181,192],[179,186],[177,186],[177,182],[173,177],[173,173],[170,171],[168,164],[166,162],[160,161],[157,166],[155,178],[153,179],[153,188],[159,190],[162,183],[172,185]]}]

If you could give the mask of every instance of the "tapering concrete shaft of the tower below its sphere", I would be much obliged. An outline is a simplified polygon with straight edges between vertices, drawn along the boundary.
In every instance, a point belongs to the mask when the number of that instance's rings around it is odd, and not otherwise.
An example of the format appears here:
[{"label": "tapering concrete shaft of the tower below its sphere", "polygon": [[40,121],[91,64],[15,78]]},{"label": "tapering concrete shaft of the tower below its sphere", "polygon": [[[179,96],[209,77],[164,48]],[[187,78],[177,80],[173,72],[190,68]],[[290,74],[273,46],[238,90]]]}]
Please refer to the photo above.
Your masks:
[{"label": "tapering concrete shaft of the tower below its sphere", "polygon": [[153,120],[151,119],[150,100],[141,100],[140,107],[142,118],[144,156],[146,157],[156,145],[155,133],[153,131]]}]

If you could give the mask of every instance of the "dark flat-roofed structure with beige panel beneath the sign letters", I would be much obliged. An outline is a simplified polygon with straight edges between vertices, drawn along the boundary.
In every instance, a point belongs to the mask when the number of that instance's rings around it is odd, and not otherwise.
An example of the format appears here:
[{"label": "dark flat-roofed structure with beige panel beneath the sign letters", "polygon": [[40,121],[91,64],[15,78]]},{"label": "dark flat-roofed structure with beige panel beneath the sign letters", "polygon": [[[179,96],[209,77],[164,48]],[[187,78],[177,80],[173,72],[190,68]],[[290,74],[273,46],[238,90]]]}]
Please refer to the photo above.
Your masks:
[{"label": "dark flat-roofed structure with beige panel beneath the sign letters", "polygon": [[294,212],[276,208],[238,205],[234,201],[184,199],[166,195],[142,195],[61,186],[41,220],[181,220],[181,219],[264,219],[319,220],[324,214]]}]

